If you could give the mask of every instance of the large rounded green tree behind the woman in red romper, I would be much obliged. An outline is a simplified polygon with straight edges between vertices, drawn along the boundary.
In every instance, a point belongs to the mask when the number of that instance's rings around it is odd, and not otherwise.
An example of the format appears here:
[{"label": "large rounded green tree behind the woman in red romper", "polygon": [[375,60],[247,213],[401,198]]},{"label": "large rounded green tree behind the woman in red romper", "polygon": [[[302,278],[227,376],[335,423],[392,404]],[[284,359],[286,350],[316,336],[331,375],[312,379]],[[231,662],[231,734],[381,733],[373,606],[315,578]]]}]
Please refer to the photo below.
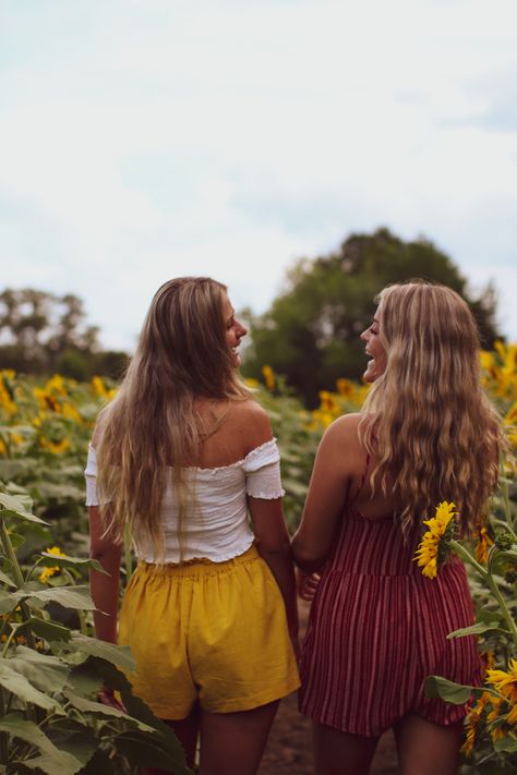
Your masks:
[{"label": "large rounded green tree behind the woman in red romper", "polygon": [[492,347],[497,337],[493,288],[471,299],[466,278],[432,242],[404,242],[383,228],[352,234],[337,252],[294,265],[287,290],[268,312],[251,315],[244,374],[260,377],[268,364],[315,405],[320,390],[334,389],[339,377],[357,379],[364,371],[359,335],[370,325],[375,295],[392,282],[416,277],[457,291],[478,322],[483,347]]}]

